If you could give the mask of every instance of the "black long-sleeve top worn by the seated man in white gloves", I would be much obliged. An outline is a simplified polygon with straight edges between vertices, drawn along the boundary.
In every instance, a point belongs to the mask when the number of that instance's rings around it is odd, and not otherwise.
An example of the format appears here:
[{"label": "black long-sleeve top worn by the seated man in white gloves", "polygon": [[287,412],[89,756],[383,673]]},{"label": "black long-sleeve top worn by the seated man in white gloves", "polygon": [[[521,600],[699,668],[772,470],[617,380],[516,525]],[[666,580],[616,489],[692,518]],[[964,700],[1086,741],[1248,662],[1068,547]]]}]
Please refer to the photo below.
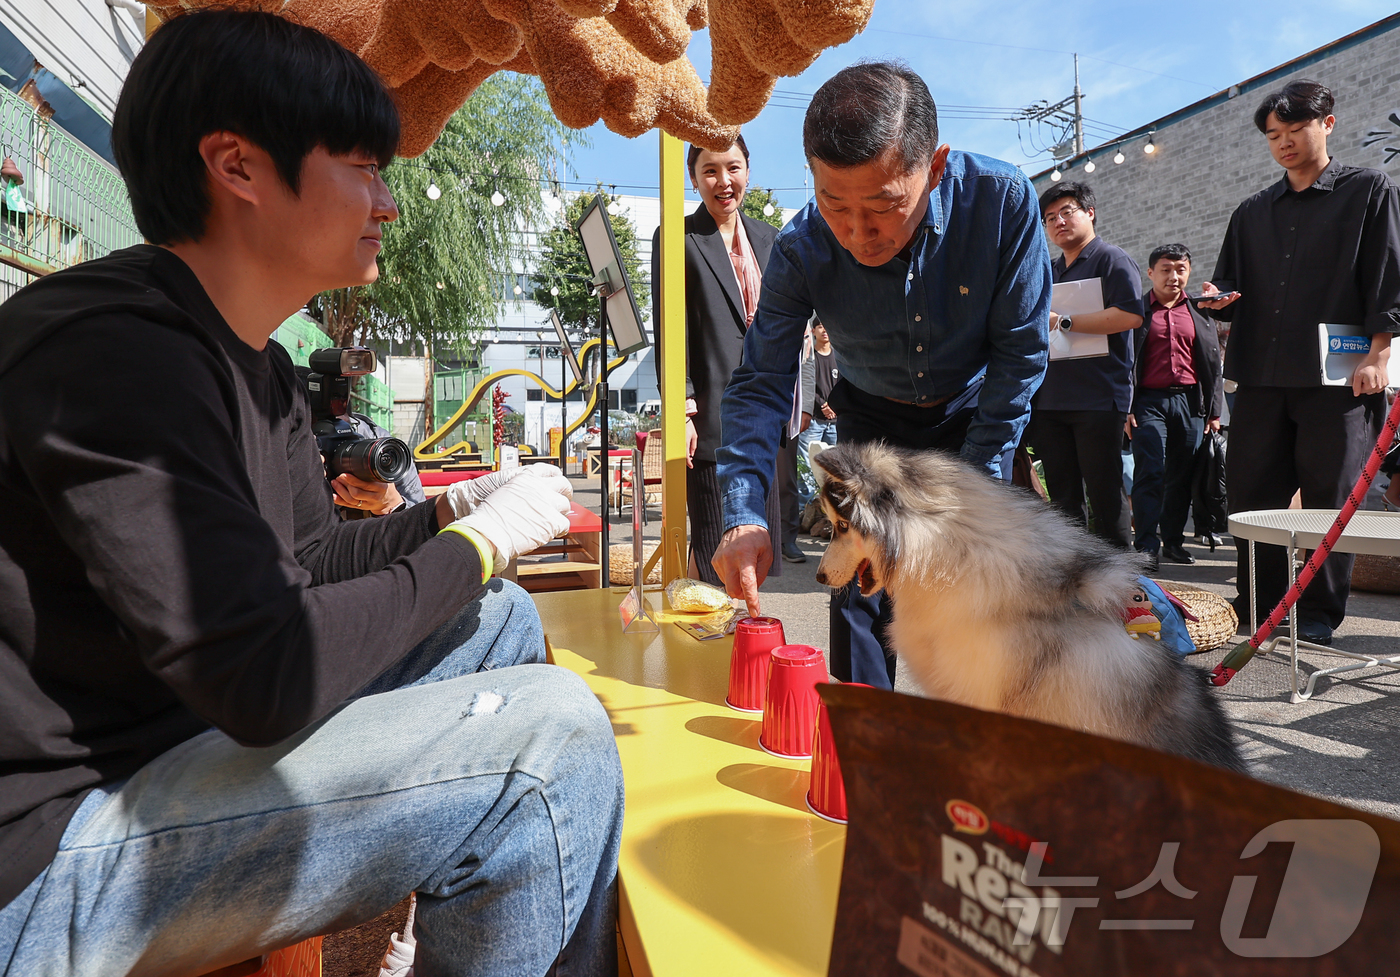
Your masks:
[{"label": "black long-sleeve top worn by the seated man in white gloves", "polygon": [[342,522],[276,343],[147,245],[0,305],[0,906],[85,792],[276,743],[482,593],[431,502]]}]

